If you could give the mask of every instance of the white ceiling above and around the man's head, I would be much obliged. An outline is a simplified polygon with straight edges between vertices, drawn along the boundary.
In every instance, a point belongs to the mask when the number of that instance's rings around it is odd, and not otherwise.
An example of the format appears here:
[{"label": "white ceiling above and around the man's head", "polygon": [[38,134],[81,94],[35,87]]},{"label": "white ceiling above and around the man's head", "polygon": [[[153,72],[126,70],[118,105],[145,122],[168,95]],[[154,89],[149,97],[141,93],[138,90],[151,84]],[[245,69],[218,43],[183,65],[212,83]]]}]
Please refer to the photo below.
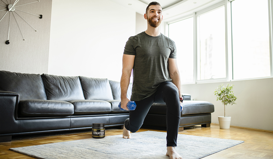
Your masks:
[{"label": "white ceiling above and around the man's head", "polygon": [[[145,14],[146,7],[153,0],[111,0],[115,3],[136,11],[139,14]],[[172,20],[177,17],[183,17],[200,11],[203,8],[223,2],[224,0],[156,0],[159,2],[164,20]]]}]

